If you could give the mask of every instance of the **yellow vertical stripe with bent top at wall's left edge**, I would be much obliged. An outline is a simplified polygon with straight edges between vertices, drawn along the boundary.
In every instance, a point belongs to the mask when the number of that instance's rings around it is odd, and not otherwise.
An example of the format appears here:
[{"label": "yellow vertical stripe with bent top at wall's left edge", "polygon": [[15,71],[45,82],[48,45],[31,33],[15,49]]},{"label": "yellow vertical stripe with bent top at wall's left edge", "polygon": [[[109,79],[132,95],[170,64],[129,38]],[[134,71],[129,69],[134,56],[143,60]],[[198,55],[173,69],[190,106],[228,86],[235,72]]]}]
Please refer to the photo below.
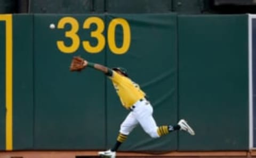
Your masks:
[{"label": "yellow vertical stripe with bent top at wall's left edge", "polygon": [[12,14],[0,15],[0,21],[5,21],[5,148],[10,151],[13,148],[12,140]]}]

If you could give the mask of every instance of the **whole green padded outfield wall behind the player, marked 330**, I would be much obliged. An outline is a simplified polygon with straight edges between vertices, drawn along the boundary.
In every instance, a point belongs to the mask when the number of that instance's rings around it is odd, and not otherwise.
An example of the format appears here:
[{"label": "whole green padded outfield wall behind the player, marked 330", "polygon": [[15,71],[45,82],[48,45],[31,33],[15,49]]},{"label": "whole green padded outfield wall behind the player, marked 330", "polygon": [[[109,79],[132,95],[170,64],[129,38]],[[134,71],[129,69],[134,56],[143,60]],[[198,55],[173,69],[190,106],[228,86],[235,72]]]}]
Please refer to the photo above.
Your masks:
[{"label": "whole green padded outfield wall behind the player, marked 330", "polygon": [[0,150],[103,150],[115,143],[129,111],[102,73],[69,72],[73,56],[127,68],[158,125],[185,118],[196,131],[151,139],[138,126],[122,151],[248,150],[247,19],[0,15]]}]

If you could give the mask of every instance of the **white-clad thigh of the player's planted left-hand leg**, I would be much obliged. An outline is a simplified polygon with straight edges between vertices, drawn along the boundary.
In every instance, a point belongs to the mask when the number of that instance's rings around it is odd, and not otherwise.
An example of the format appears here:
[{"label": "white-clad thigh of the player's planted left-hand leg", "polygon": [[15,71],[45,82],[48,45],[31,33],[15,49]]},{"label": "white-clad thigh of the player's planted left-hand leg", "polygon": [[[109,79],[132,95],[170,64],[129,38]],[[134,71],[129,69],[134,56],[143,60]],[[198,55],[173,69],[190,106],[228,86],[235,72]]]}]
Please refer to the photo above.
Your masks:
[{"label": "white-clad thigh of the player's planted left-hand leg", "polygon": [[135,118],[132,112],[127,115],[120,126],[120,133],[124,135],[129,135],[130,132],[139,124],[138,120]]}]

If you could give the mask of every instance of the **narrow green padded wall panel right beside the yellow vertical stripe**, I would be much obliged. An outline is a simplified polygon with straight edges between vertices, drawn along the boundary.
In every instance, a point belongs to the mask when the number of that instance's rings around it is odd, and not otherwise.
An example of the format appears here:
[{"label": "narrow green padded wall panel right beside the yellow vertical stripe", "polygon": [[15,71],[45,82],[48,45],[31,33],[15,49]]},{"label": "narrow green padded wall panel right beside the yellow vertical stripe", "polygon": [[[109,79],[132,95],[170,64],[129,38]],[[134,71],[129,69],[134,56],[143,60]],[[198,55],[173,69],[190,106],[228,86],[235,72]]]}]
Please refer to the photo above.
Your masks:
[{"label": "narrow green padded wall panel right beside the yellow vertical stripe", "polygon": [[33,15],[13,15],[13,150],[33,149]]}]

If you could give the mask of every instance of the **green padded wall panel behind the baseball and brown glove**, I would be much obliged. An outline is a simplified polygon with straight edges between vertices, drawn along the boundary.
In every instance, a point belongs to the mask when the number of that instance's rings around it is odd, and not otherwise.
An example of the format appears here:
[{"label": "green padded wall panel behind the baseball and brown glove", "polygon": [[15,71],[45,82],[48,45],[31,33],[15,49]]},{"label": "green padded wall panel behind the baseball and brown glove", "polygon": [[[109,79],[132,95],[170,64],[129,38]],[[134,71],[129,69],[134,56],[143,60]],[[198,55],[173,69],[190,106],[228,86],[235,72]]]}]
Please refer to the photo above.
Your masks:
[{"label": "green padded wall panel behind the baseball and brown glove", "polygon": [[[105,146],[104,75],[90,68],[82,73],[69,71],[73,56],[105,62],[105,51],[90,54],[82,46],[85,40],[97,45],[97,39],[90,36],[97,25],[83,29],[89,17],[35,15],[35,149],[95,150]],[[97,18],[104,21],[101,15]],[[49,28],[51,23],[62,22],[63,29]],[[65,37],[70,30],[72,35]],[[58,47],[57,41],[65,46]],[[66,53],[67,47],[71,53]]]}]

